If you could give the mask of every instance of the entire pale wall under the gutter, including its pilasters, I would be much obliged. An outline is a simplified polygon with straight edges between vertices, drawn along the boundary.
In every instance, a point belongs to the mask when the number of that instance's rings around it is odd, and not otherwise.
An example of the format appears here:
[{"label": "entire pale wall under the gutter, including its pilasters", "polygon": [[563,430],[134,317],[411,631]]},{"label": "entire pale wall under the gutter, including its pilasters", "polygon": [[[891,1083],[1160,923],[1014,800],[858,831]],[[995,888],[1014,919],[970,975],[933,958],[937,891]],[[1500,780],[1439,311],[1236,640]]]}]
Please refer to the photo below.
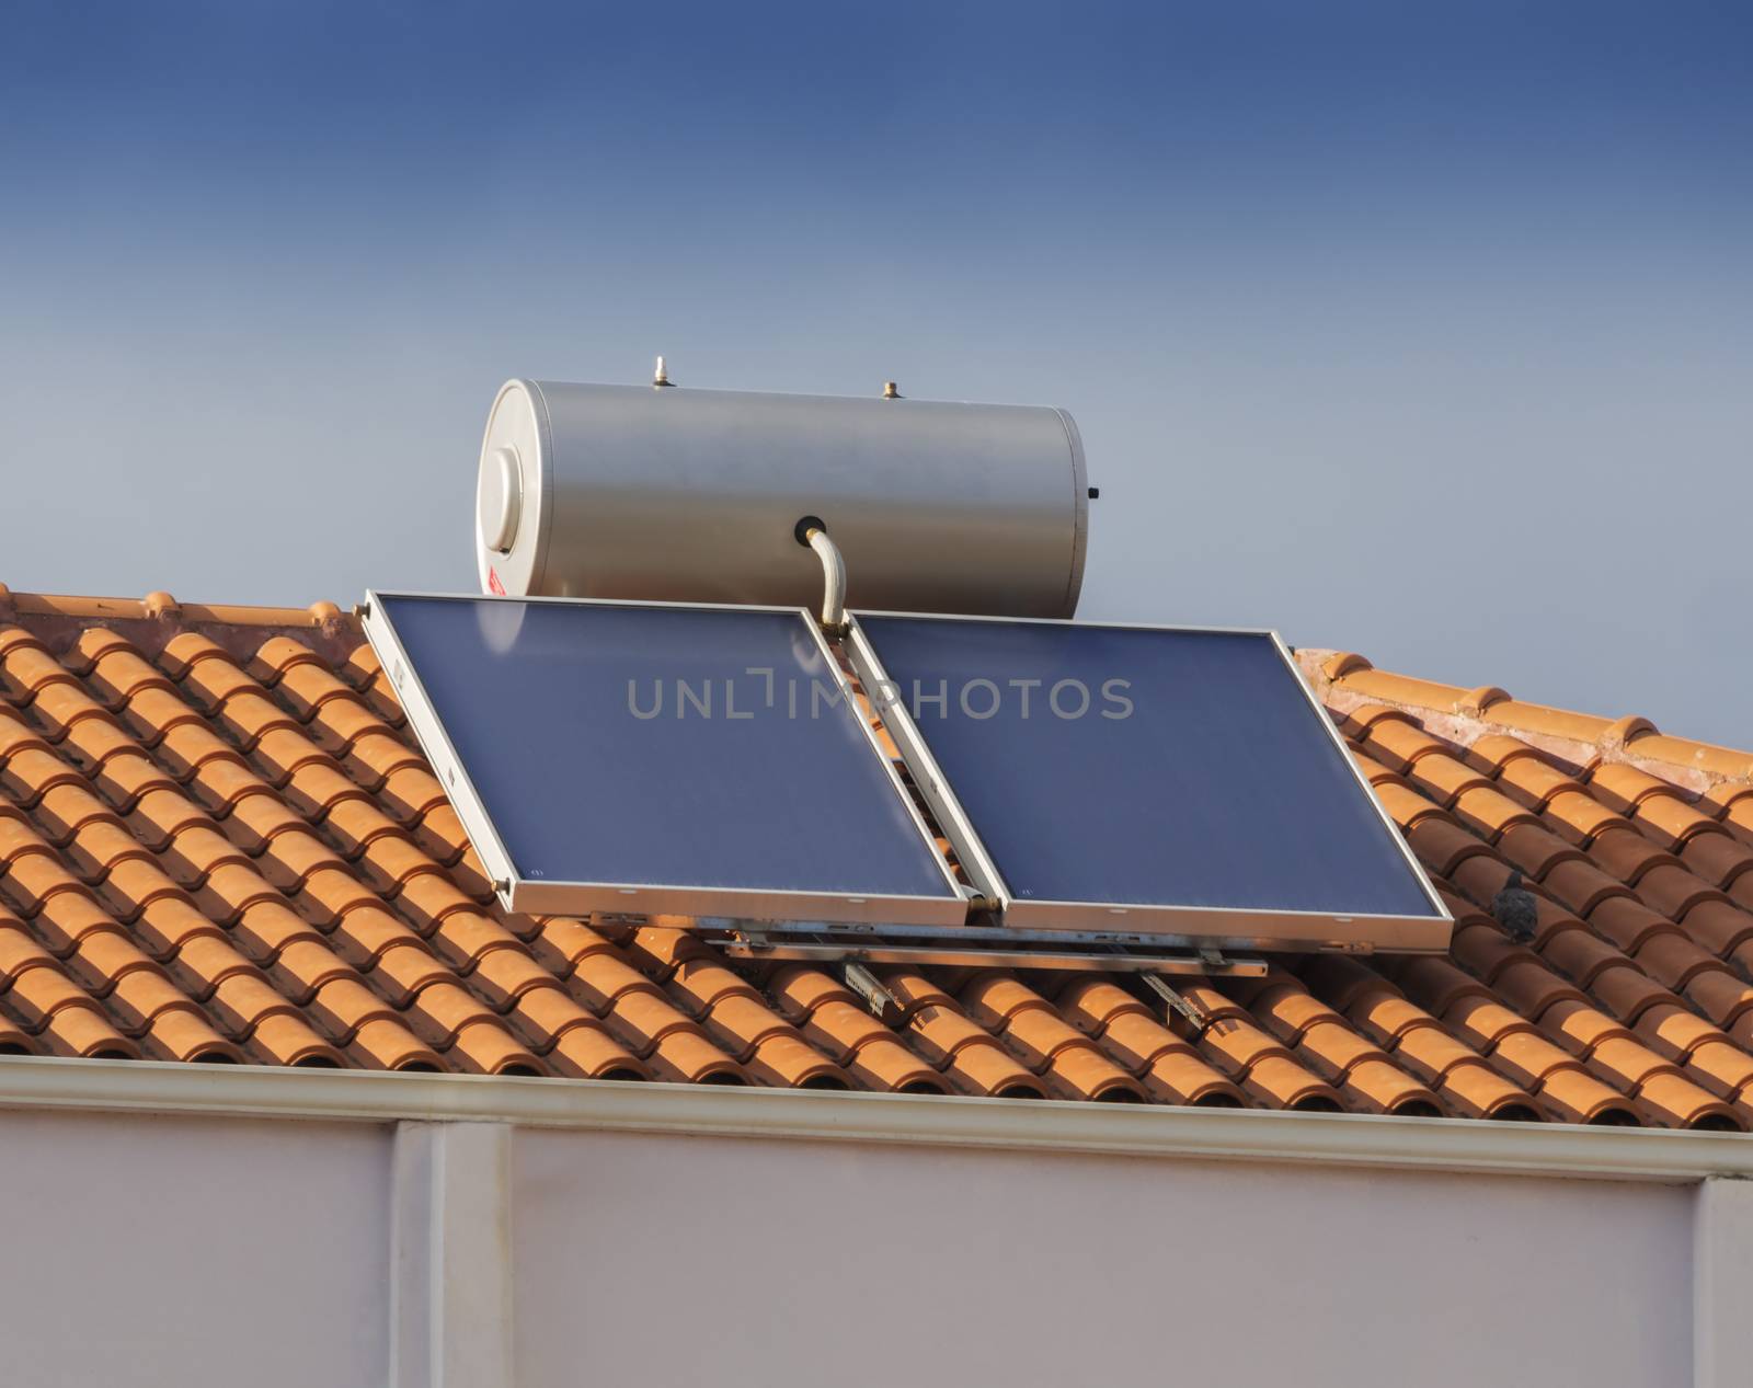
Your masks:
[{"label": "entire pale wall under the gutter, including its pilasters", "polygon": [[[0,1381],[382,1384],[394,1276],[415,1388],[1613,1388],[1692,1369],[1697,1186],[410,1134],[442,1157],[403,1141],[393,1162],[386,1122],[0,1113]],[[1753,1185],[1713,1185],[1749,1216],[1713,1216],[1700,1244],[1727,1279],[1730,1376],[1709,1381],[1732,1383]],[[480,1313],[505,1300],[501,1356]]]}]

